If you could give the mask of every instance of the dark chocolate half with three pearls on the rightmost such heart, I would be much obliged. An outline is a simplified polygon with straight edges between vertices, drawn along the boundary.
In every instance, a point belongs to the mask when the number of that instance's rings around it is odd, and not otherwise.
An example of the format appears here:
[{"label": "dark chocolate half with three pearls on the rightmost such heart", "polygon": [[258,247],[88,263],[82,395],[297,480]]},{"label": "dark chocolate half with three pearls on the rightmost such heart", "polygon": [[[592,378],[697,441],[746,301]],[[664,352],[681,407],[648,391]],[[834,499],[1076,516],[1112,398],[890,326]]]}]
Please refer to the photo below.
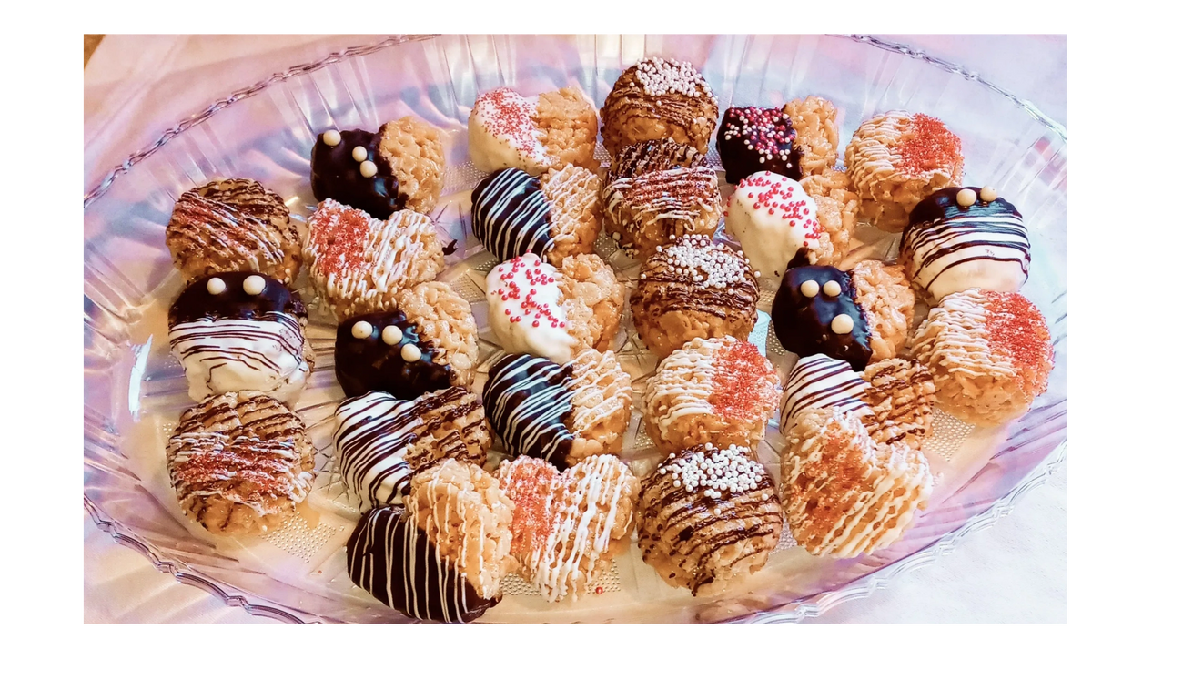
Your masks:
[{"label": "dark chocolate half with three pearls on the rightmost such heart", "polygon": [[[806,280],[817,282],[816,297],[801,294],[801,284]],[[829,280],[838,280],[842,286],[836,297],[822,290]],[[839,314],[854,320],[851,333],[839,335],[830,329],[830,322]],[[834,266],[797,266],[786,271],[772,299],[772,328],[784,349],[802,357],[823,354],[846,360],[855,372],[866,368],[871,359],[871,329],[855,301],[854,283],[849,273]]]}]

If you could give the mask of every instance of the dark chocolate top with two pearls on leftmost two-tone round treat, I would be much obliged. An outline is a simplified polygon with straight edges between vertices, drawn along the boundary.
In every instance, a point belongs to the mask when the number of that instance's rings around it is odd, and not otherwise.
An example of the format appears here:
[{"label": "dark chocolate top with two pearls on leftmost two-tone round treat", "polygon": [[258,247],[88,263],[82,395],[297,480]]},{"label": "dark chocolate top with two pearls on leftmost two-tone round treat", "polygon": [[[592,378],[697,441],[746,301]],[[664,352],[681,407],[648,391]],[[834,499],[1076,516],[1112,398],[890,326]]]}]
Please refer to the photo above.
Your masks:
[{"label": "dark chocolate top with two pearls on leftmost two-tone round treat", "polygon": [[[266,280],[263,292],[247,295],[243,282],[251,276]],[[214,278],[226,283],[221,295],[211,295],[206,285]],[[251,271],[233,271],[215,273],[198,278],[186,288],[168,310],[168,327],[199,318],[258,318],[267,311],[282,311],[297,318],[308,318],[308,309],[299,298],[299,292],[292,292],[283,283]]]}]

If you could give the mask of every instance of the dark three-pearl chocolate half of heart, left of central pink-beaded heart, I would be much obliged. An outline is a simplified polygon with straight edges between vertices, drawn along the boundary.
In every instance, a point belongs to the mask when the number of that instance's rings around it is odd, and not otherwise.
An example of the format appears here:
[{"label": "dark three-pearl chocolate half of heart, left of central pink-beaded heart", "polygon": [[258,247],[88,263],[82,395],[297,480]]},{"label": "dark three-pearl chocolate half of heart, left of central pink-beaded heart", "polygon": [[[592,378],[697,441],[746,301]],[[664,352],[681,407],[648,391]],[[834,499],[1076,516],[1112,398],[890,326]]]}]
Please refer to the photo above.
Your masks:
[{"label": "dark three-pearl chocolate half of heart, left of central pink-beaded heart", "polygon": [[[354,337],[354,324],[368,321],[374,327],[369,337]],[[396,325],[402,330],[402,341],[388,346],[382,340],[382,329]],[[384,391],[401,400],[414,400],[424,393],[439,391],[452,385],[452,366],[437,362],[439,348],[422,340],[419,327],[397,309],[383,314],[364,314],[347,318],[337,325],[337,344],[334,363],[337,381],[353,398],[370,391]],[[402,359],[402,346],[414,343],[422,356],[419,361]]]}]

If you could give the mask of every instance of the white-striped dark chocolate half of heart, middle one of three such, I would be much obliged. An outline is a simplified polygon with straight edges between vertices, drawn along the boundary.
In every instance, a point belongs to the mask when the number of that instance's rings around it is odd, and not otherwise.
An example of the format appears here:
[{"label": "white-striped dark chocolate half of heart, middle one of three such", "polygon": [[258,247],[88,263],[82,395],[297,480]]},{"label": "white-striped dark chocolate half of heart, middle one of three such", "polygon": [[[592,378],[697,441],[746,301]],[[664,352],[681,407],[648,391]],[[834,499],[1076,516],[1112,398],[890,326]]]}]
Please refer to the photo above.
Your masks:
[{"label": "white-striped dark chocolate half of heart, middle one of three such", "polygon": [[565,424],[574,410],[570,383],[570,365],[525,354],[506,355],[490,369],[485,412],[511,456],[542,458],[567,469],[575,440]]}]

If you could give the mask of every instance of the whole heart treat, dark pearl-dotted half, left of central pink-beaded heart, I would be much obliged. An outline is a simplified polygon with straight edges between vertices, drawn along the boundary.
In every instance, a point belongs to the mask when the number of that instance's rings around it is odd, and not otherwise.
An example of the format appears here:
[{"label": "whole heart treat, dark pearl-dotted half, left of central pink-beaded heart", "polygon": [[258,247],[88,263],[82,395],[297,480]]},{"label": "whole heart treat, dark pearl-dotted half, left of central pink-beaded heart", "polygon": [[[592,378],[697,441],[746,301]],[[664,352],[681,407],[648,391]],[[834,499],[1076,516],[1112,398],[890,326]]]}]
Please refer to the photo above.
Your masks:
[{"label": "whole heart treat, dark pearl-dotted half, left of central pink-beaded heart", "polygon": [[394,297],[397,309],[351,316],[337,325],[332,357],[345,395],[386,391],[409,400],[472,383],[477,322],[447,283],[420,283]]}]

